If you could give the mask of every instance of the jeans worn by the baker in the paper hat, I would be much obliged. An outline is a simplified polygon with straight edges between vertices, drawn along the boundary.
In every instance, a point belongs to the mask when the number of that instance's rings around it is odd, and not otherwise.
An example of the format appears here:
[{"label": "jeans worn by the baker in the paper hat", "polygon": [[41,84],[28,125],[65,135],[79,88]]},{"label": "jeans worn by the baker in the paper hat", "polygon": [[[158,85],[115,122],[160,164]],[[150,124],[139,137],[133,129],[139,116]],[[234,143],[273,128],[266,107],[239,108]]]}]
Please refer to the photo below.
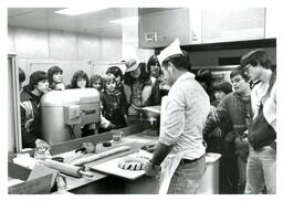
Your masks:
[{"label": "jeans worn by the baker in the paper hat", "polygon": [[206,157],[191,163],[179,163],[168,189],[168,194],[197,194],[206,171]]}]

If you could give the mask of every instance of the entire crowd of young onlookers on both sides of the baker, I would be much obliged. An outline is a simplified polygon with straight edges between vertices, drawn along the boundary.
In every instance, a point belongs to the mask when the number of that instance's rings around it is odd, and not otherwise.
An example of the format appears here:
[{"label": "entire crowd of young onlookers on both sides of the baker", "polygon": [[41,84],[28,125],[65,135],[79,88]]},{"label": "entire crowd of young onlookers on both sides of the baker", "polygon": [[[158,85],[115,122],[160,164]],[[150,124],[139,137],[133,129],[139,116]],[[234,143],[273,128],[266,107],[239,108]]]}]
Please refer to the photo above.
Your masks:
[{"label": "entire crowd of young onlookers on both sides of the baker", "polygon": [[[264,115],[268,116],[266,119],[271,124],[269,129],[275,129],[276,113],[273,108],[276,100],[273,85],[276,78],[276,68],[271,65],[263,50],[256,50],[245,57],[243,56],[241,62],[242,64],[230,73],[231,84],[223,81],[210,87],[205,81],[211,78],[211,74],[209,75],[207,71],[196,74],[196,80],[202,83],[201,85],[210,96],[211,106],[213,106],[203,129],[203,138],[208,144],[207,151],[222,155],[220,183],[231,187],[230,190],[223,190],[222,193],[262,192],[263,188],[260,187],[259,179],[262,180],[263,176],[264,180],[269,182],[265,182],[268,193],[274,193],[273,174],[276,163],[274,145],[276,144],[272,142],[274,150],[266,148],[268,142],[265,141],[274,141],[274,139],[270,139],[264,134],[260,134],[263,136],[262,138],[258,139],[256,136],[253,136],[248,140],[248,137],[251,136],[248,135],[248,130],[250,131],[253,118],[256,117],[262,105],[265,106]],[[63,84],[63,71],[59,66],[51,67],[48,73],[42,71],[32,73],[29,85],[23,87],[20,96],[23,148],[33,148],[35,139],[41,137],[40,98],[51,89],[96,88],[101,95],[101,127],[104,130],[122,128],[134,123],[139,118],[139,109],[143,106],[160,105],[161,96],[167,95],[169,88],[157,56],[150,56],[147,64],[129,60],[125,62],[125,74],[119,67],[111,66],[104,76],[92,75],[90,80],[85,72],[77,71],[69,86]],[[21,84],[25,80],[25,75],[21,70],[19,75]],[[252,81],[253,87],[251,87],[250,81]],[[260,144],[263,146],[258,149],[255,145],[250,145],[250,140],[252,142],[263,140],[263,144]],[[273,158],[269,161],[262,159],[262,163],[259,165],[256,155],[254,155],[258,151]],[[270,168],[264,167],[264,163],[268,162],[266,166]],[[256,174],[256,169],[253,169],[252,166],[259,166],[261,173]]]}]

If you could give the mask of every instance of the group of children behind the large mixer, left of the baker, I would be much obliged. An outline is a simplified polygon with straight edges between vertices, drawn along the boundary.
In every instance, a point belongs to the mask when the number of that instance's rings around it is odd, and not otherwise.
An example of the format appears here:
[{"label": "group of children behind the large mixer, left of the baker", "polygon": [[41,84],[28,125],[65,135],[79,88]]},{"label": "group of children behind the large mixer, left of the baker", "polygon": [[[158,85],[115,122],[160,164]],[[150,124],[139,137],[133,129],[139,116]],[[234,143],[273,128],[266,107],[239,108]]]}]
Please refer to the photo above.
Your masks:
[{"label": "group of children behind the large mixer, left of the baker", "polygon": [[[134,62],[133,62],[134,61]],[[153,61],[148,62],[151,65]],[[156,59],[153,65],[157,65]],[[33,148],[36,138],[41,138],[40,99],[50,91],[64,91],[71,88],[96,88],[101,97],[101,126],[99,131],[114,128],[123,128],[133,124],[133,108],[137,114],[143,106],[160,105],[160,91],[158,81],[154,76],[161,74],[160,65],[158,72],[150,73],[150,66],[137,60],[125,61],[125,74],[118,66],[111,66],[105,75],[94,74],[88,78],[84,71],[73,74],[69,85],[63,83],[63,70],[52,66],[48,72],[36,71],[30,75],[29,84],[21,87],[21,130],[23,148]],[[124,82],[124,77],[126,81]],[[19,68],[20,86],[25,80],[24,72]],[[125,92],[126,91],[126,92]],[[135,114],[135,117],[140,115]],[[128,117],[129,116],[129,117]],[[136,119],[134,119],[136,120]]]}]

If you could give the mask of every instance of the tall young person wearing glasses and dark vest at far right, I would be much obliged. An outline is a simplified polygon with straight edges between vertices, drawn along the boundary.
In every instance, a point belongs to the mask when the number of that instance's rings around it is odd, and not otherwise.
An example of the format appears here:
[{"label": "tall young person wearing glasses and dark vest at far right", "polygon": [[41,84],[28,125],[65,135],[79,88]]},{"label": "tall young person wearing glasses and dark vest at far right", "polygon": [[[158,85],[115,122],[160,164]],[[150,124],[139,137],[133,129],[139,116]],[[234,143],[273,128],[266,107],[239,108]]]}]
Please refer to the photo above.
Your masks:
[{"label": "tall young person wearing glasses and dark vest at far right", "polygon": [[276,67],[266,52],[258,49],[241,59],[252,82],[253,119],[248,133],[250,155],[244,193],[276,193]]}]

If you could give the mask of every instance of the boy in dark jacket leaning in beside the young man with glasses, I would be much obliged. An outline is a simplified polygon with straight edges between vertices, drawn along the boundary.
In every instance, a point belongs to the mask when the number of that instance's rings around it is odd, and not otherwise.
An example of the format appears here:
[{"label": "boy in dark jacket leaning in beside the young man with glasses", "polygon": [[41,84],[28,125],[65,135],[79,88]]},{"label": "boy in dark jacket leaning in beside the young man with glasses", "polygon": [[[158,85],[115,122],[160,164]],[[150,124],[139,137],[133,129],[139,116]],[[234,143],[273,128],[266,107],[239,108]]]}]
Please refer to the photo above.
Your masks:
[{"label": "boy in dark jacket leaning in beside the young man with glasses", "polygon": [[229,133],[228,138],[234,134],[235,155],[238,158],[238,193],[243,193],[247,180],[247,159],[249,156],[249,146],[247,139],[247,129],[250,123],[251,114],[251,89],[249,77],[240,66],[232,70],[230,74],[233,92],[228,94],[216,109],[213,116],[209,116],[203,129],[203,136],[210,134],[217,126],[229,119],[233,127],[233,133]]}]

